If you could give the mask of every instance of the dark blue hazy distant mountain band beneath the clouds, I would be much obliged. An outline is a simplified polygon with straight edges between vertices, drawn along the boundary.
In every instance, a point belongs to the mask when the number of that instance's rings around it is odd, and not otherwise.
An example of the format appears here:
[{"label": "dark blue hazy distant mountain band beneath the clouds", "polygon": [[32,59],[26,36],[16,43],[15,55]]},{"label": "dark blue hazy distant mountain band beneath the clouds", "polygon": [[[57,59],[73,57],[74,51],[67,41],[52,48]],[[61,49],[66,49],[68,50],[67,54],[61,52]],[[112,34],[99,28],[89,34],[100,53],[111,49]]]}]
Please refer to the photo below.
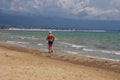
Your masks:
[{"label": "dark blue hazy distant mountain band beneath the clouds", "polygon": [[0,24],[24,26],[25,28],[33,26],[32,28],[120,30],[120,21],[76,20],[6,13],[0,13]]}]

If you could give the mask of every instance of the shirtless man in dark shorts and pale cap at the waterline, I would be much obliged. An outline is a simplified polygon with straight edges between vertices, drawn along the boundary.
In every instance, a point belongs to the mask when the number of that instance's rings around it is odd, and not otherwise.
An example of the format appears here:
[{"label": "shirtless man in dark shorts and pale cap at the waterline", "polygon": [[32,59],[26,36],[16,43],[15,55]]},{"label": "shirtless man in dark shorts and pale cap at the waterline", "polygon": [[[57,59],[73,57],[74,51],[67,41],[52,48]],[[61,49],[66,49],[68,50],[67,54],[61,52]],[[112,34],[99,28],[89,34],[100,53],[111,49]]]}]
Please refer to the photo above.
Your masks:
[{"label": "shirtless man in dark shorts and pale cap at the waterline", "polygon": [[54,42],[54,35],[52,34],[52,31],[49,31],[46,40],[48,41],[48,50],[49,53],[53,52],[53,42]]}]

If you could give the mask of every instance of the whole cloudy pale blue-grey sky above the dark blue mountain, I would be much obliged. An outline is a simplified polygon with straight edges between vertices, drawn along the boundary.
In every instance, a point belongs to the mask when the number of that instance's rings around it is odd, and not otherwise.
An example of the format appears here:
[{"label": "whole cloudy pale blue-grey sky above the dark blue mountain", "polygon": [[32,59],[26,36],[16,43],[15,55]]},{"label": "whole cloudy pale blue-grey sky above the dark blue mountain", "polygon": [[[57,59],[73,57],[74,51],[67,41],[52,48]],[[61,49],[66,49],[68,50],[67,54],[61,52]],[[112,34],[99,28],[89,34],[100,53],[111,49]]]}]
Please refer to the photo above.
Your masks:
[{"label": "whole cloudy pale blue-grey sky above the dark blue mountain", "polygon": [[0,12],[86,20],[120,20],[120,0],[0,0]]}]

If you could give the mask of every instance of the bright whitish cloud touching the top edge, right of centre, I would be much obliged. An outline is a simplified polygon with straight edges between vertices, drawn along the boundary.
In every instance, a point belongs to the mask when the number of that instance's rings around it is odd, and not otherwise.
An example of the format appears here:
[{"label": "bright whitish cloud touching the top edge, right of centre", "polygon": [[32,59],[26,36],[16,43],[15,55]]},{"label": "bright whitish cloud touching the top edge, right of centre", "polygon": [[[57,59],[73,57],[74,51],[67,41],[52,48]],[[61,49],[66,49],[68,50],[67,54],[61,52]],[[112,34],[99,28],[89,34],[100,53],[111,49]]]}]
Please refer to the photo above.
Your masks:
[{"label": "bright whitish cloud touching the top edge, right of centre", "polygon": [[89,0],[59,0],[61,8],[68,13],[78,14],[89,4]]}]

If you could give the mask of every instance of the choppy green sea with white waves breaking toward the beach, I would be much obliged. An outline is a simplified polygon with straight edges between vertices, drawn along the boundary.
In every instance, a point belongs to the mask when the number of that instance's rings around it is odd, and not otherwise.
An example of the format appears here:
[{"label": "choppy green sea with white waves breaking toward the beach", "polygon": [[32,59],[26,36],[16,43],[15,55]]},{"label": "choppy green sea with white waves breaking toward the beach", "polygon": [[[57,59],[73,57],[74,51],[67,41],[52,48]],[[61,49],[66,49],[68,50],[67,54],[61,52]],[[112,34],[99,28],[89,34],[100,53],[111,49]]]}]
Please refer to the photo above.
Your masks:
[{"label": "choppy green sea with white waves breaking toward the beach", "polygon": [[[120,61],[120,32],[52,31],[54,51]],[[0,30],[0,42],[47,50],[48,31]]]}]

